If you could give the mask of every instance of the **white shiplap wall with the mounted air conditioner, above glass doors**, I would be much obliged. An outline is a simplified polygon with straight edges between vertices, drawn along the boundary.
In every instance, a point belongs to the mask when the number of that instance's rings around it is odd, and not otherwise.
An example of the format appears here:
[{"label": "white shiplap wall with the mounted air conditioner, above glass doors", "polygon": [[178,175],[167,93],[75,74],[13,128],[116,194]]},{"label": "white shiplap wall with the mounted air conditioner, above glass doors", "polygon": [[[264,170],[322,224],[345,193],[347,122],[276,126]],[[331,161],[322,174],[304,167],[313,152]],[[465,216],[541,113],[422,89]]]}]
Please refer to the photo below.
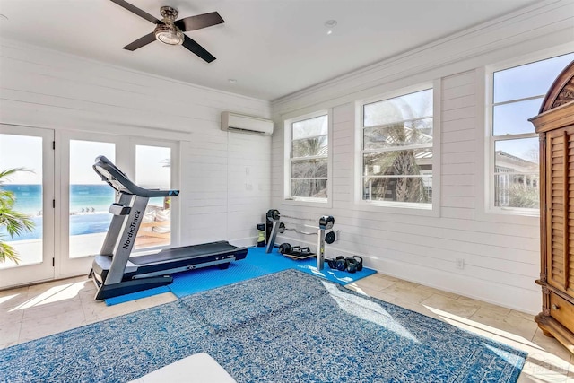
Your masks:
[{"label": "white shiplap wall with the mounted air conditioner, above glass doors", "polygon": [[271,137],[222,131],[220,118],[269,118],[269,102],[11,41],[0,69],[0,123],[178,141],[180,243],[255,243]]}]

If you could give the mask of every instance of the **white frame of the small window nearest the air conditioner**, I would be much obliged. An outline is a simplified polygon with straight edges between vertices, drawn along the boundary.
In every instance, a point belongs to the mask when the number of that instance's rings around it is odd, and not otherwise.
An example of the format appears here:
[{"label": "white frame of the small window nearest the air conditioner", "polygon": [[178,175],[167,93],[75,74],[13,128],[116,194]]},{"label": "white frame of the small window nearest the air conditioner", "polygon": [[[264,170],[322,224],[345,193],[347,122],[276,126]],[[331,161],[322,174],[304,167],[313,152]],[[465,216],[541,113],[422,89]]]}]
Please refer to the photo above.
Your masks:
[{"label": "white frame of the small window nearest the air conditioner", "polygon": [[[291,196],[291,161],[292,161],[292,125],[306,119],[326,116],[327,118],[327,178],[326,178],[326,198]],[[306,205],[331,207],[333,201],[333,113],[332,109],[322,109],[301,115],[295,118],[284,120],[284,170],[283,170],[283,204],[285,205]]]}]

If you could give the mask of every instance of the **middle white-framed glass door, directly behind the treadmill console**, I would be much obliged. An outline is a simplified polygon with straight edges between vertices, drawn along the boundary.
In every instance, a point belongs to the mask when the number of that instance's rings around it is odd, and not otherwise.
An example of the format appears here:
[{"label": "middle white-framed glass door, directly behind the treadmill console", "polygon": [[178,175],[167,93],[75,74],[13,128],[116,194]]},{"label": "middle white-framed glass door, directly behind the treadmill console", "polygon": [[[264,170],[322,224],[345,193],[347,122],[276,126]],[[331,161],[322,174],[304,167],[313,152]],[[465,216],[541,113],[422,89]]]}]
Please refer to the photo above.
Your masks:
[{"label": "middle white-framed glass door, directly behind the treadmill console", "polygon": [[92,256],[100,252],[111,221],[108,209],[115,202],[115,193],[91,166],[100,155],[117,162],[120,145],[116,136],[57,134],[61,187],[57,204],[60,229],[57,275],[88,274]]}]

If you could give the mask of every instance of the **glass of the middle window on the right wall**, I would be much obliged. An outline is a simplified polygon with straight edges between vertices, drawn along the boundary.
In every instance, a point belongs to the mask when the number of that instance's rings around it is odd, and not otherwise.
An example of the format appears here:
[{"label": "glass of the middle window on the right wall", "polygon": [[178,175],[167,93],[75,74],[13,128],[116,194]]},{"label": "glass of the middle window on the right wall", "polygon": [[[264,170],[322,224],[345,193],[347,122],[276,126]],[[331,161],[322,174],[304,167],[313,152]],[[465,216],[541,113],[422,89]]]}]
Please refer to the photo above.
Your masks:
[{"label": "glass of the middle window on the right wall", "polygon": [[362,106],[363,201],[431,208],[432,89]]}]

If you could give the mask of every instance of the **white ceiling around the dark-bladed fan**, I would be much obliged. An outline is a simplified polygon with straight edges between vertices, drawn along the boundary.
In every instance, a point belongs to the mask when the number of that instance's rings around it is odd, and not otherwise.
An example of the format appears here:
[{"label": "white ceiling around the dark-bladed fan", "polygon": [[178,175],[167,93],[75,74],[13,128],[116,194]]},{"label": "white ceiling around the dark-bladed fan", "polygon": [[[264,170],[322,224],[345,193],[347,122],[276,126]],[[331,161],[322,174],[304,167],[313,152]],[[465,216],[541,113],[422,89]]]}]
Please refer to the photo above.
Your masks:
[{"label": "white ceiling around the dark-bladed fan", "polygon": [[[0,36],[187,83],[276,100],[535,0],[128,0],[161,19],[217,11],[225,23],[187,32],[217,57],[126,44],[154,25],[109,0],[0,0]],[[324,25],[336,20],[333,33]],[[236,83],[230,83],[235,79]]]}]

